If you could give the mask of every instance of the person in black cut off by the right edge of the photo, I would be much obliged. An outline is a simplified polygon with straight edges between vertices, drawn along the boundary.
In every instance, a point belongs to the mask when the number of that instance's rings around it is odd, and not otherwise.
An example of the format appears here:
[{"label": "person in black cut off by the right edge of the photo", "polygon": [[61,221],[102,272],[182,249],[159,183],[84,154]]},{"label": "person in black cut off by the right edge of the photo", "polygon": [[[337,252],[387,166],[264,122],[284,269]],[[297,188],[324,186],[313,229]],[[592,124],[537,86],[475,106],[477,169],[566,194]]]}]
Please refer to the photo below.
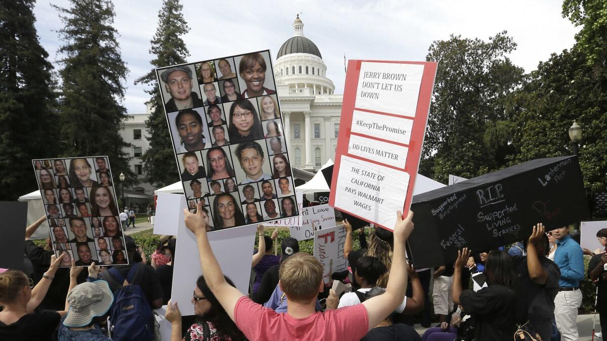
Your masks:
[{"label": "person in black cut off by the right edge of the photo", "polygon": [[599,320],[601,325],[600,333],[595,333],[597,337],[603,337],[603,331],[607,332],[607,270],[605,270],[605,264],[607,264],[607,229],[600,229],[597,231],[597,239],[603,251],[599,254],[592,256],[588,263],[588,278],[592,280],[597,286],[597,311],[599,311]]}]

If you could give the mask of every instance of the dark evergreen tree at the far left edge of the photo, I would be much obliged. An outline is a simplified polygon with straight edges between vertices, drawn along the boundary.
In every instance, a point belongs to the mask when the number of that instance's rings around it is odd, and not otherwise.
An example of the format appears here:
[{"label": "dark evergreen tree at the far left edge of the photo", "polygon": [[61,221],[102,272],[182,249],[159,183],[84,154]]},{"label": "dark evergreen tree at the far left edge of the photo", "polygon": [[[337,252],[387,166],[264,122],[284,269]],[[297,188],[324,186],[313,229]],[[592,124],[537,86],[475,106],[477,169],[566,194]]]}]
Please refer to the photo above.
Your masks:
[{"label": "dark evergreen tree at the far left edge of the photo", "polygon": [[30,160],[57,151],[53,67],[38,41],[34,4],[0,1],[0,200],[34,191]]}]

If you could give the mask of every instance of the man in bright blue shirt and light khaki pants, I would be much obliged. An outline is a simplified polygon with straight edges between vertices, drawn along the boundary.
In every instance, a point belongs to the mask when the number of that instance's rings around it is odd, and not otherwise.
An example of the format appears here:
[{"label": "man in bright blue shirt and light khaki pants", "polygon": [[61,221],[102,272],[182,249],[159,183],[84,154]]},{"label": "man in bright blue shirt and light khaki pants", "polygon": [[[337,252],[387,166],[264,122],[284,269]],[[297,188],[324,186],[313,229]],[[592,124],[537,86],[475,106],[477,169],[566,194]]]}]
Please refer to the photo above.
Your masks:
[{"label": "man in bright blue shirt and light khaki pants", "polygon": [[557,239],[554,263],[561,269],[558,294],[554,299],[554,317],[561,340],[577,340],[577,309],[582,305],[580,281],[585,277],[584,258],[580,245],[569,235],[568,226],[552,231]]}]

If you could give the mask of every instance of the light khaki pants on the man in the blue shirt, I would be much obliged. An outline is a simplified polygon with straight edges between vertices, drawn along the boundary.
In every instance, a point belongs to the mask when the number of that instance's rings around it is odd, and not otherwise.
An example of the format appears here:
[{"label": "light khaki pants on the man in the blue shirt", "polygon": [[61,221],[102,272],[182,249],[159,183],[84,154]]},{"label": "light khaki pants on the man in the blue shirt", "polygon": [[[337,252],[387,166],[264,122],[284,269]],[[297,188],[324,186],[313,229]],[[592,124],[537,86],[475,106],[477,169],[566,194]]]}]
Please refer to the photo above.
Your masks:
[{"label": "light khaki pants on the man in the blue shirt", "polygon": [[554,317],[561,340],[577,340],[577,308],[582,305],[582,291],[559,291],[554,298]]}]

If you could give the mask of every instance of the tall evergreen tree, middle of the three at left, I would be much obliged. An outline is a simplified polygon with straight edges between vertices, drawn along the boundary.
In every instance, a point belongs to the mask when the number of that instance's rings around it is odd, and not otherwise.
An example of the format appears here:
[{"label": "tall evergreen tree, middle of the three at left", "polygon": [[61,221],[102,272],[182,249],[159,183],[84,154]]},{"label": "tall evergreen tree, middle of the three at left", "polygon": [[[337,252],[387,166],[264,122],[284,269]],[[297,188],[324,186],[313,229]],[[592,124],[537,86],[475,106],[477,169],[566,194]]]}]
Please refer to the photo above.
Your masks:
[{"label": "tall evergreen tree, middle of the three at left", "polygon": [[63,93],[61,152],[65,156],[108,155],[114,182],[127,175],[127,185],[136,183],[124,149],[130,144],[120,135],[126,120],[123,81],[128,69],[120,56],[110,0],[70,0],[69,8],[55,7],[65,27],[59,72]]}]

